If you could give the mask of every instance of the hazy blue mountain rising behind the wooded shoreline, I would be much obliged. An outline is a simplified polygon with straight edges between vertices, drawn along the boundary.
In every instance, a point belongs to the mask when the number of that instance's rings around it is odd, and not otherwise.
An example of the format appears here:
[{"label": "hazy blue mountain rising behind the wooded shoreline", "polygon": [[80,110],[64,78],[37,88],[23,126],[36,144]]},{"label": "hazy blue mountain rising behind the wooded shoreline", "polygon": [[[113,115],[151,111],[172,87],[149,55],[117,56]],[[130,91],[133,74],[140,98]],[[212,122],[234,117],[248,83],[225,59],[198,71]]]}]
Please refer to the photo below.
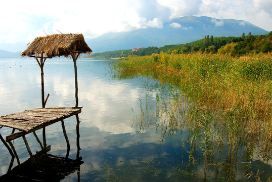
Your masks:
[{"label": "hazy blue mountain rising behind the wooded shoreline", "polygon": [[214,19],[210,17],[186,16],[163,23],[163,28],[147,27],[129,32],[106,33],[93,39],[85,39],[94,53],[132,49],[136,47],[162,47],[181,44],[203,38],[205,35],[241,36],[245,32],[253,35],[267,34],[247,21]]}]

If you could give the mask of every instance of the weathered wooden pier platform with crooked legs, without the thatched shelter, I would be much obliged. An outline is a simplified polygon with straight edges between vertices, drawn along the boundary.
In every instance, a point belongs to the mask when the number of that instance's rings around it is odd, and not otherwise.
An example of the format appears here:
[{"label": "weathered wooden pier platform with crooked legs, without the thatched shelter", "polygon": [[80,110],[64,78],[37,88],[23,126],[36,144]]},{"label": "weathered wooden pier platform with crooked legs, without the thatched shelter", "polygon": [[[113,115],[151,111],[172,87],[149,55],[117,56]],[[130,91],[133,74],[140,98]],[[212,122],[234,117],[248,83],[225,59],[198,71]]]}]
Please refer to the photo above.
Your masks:
[{"label": "weathered wooden pier platform with crooked legs, without the thatched shelter", "polygon": [[[77,158],[79,157],[79,119],[78,114],[81,112],[82,107],[57,107],[57,108],[35,108],[32,110],[25,110],[23,112],[19,113],[13,113],[6,116],[0,117],[0,128],[3,126],[13,128],[11,134],[6,136],[6,141],[4,140],[3,136],[0,133],[0,140],[3,142],[3,144],[7,147],[9,150],[12,158],[16,157],[18,164],[20,164],[20,160],[18,158],[18,155],[15,151],[15,148],[11,141],[22,137],[24,140],[24,143],[26,145],[27,151],[30,155],[30,157],[33,157],[33,154],[28,146],[27,140],[25,135],[28,133],[33,132],[37,142],[40,144],[41,149],[44,149],[47,147],[46,143],[46,126],[49,126],[53,123],[56,123],[58,121],[61,121],[64,137],[67,143],[67,154],[66,158],[69,156],[70,151],[70,144],[68,140],[68,136],[66,134],[65,126],[64,126],[64,119],[71,117],[73,115],[76,116],[77,120],[77,147],[78,147],[78,153]],[[42,137],[43,137],[43,145],[41,144],[40,140],[38,139],[35,131],[42,128]],[[15,130],[18,129],[17,132]],[[7,144],[7,142],[10,144],[11,148]],[[11,162],[13,164],[13,162]],[[12,166],[12,165],[11,165]],[[11,167],[9,168],[10,171]]]}]

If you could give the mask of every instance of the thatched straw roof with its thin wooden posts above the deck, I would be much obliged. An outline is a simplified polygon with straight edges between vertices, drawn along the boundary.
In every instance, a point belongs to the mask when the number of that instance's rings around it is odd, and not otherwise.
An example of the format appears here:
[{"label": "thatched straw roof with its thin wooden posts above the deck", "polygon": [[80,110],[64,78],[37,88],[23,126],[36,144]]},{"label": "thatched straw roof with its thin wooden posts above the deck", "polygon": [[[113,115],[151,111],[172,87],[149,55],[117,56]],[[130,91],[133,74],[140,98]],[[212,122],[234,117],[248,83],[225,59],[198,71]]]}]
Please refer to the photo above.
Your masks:
[{"label": "thatched straw roof with its thin wooden posts above the deck", "polygon": [[[68,34],[53,34],[44,37],[37,37],[30,43],[27,49],[21,53],[21,56],[34,57],[40,67],[41,72],[41,105],[46,106],[44,100],[44,83],[43,83],[43,65],[47,58],[56,56],[71,56],[74,62],[75,70],[75,99],[78,106],[78,88],[77,88],[77,68],[76,60],[81,53],[90,55],[93,51],[88,47],[81,33],[68,33]],[[38,60],[40,58],[40,61]]]}]

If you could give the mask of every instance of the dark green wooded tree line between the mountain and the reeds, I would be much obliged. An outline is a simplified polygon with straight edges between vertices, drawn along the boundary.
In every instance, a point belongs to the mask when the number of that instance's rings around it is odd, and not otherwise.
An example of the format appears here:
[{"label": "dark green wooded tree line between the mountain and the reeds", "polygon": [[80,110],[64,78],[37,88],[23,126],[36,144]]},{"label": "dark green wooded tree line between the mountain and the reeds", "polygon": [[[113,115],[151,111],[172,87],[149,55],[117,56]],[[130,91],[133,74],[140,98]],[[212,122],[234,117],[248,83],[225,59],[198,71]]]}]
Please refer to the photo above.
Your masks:
[{"label": "dark green wooded tree line between the mountain and the reeds", "polygon": [[128,56],[148,56],[161,52],[168,54],[188,54],[201,52],[206,54],[230,54],[242,56],[246,53],[272,52],[272,31],[266,35],[252,35],[243,33],[240,37],[213,37],[205,35],[204,38],[185,44],[164,45],[161,48],[148,47],[142,50],[118,50],[103,53],[94,53],[92,58],[121,58]]}]

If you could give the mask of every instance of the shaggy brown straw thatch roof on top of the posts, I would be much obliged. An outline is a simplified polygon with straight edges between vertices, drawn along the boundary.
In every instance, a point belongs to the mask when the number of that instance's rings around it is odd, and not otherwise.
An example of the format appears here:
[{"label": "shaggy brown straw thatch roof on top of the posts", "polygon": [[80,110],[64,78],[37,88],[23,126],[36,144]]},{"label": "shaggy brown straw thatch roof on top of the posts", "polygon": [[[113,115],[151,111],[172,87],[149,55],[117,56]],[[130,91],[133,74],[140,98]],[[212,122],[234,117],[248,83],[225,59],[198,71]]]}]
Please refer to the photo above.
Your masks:
[{"label": "shaggy brown straw thatch roof on top of the posts", "polygon": [[43,53],[43,57],[47,58],[55,56],[68,57],[75,52],[87,55],[92,53],[81,33],[36,37],[28,48],[21,53],[21,56],[40,56]]}]

